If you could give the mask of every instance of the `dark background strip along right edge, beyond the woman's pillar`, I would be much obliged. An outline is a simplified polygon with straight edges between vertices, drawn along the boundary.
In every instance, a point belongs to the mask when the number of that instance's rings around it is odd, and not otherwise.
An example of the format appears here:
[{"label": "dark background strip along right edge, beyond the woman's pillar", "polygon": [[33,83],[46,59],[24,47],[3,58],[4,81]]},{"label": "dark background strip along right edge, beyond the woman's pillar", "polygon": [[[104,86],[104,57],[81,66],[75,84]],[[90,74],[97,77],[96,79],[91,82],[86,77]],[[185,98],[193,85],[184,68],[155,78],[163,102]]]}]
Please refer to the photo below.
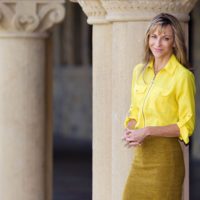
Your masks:
[{"label": "dark background strip along right edge, beyond the woman's pillar", "polygon": [[190,145],[190,200],[200,199],[200,1],[191,12],[190,60],[196,78],[196,129]]}]

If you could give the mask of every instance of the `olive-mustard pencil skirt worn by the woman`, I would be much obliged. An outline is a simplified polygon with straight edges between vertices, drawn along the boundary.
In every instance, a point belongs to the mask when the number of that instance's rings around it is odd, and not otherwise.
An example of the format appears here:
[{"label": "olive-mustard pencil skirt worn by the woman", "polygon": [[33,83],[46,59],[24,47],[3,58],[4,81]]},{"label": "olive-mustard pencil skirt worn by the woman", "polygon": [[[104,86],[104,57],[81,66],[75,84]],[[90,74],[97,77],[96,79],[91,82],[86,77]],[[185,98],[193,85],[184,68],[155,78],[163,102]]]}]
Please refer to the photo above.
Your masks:
[{"label": "olive-mustard pencil skirt worn by the woman", "polygon": [[184,175],[178,139],[149,136],[135,148],[123,200],[181,200]]}]

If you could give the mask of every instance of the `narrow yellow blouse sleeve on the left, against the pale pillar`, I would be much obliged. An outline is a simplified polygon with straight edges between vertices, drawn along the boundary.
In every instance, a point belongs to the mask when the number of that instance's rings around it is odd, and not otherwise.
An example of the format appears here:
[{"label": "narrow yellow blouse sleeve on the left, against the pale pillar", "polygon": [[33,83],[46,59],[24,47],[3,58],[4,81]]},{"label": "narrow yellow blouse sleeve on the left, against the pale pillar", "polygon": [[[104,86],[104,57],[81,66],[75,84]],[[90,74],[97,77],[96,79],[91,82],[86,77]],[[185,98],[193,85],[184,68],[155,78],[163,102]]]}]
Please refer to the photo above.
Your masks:
[{"label": "narrow yellow blouse sleeve on the left, against the pale pillar", "polygon": [[133,70],[132,84],[131,84],[131,105],[130,105],[129,111],[127,113],[127,116],[125,118],[125,121],[124,121],[124,127],[127,127],[128,122],[131,119],[135,119],[136,121],[138,120],[137,119],[138,118],[138,108],[135,103],[135,94],[134,94],[134,85],[135,85],[135,81],[137,79],[137,72],[136,72],[135,68]]}]

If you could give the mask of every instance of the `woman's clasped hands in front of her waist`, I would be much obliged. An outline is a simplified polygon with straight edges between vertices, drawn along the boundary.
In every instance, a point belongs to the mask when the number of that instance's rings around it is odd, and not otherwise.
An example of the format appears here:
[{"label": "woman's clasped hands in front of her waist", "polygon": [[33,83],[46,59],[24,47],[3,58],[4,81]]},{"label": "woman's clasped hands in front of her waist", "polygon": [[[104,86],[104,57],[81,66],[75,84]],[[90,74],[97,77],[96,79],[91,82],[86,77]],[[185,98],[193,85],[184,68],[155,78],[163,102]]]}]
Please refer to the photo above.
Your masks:
[{"label": "woman's clasped hands in front of her waist", "polygon": [[123,134],[124,135],[122,137],[122,140],[125,142],[125,146],[128,148],[140,146],[144,141],[145,137],[147,136],[145,128],[141,129],[125,128]]}]

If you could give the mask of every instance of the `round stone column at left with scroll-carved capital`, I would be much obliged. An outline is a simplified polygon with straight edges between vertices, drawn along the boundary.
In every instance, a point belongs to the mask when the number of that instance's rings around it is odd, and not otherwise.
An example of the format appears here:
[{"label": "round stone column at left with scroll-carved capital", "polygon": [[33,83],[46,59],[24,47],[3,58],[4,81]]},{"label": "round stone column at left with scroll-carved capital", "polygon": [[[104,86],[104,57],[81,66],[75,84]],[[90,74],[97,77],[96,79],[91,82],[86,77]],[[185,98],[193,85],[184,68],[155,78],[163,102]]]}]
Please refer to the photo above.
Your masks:
[{"label": "round stone column at left with scroll-carved capital", "polygon": [[62,3],[0,3],[0,199],[52,199],[46,31]]}]

